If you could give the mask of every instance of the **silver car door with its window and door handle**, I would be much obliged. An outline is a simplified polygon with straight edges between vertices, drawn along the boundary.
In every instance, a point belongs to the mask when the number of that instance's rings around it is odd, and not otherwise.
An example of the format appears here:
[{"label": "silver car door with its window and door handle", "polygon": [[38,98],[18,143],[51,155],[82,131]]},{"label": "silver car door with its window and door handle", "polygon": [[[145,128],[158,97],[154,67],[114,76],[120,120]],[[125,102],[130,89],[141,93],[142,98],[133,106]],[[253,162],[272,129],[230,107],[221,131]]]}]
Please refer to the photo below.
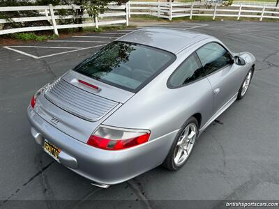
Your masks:
[{"label": "silver car door with its window and door handle", "polygon": [[[213,112],[221,109],[236,94],[231,54],[218,42],[210,42],[199,49],[197,55],[204,67],[213,91]],[[237,87],[239,88],[239,86]]]}]

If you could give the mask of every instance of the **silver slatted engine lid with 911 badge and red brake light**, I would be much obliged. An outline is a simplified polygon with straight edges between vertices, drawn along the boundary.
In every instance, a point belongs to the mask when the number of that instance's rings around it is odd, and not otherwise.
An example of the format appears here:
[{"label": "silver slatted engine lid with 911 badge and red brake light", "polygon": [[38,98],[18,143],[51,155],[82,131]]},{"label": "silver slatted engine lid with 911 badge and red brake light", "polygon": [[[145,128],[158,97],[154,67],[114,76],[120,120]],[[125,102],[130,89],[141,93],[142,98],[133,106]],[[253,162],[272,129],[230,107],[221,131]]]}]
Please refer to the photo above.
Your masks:
[{"label": "silver slatted engine lid with 911 badge and red brake light", "polygon": [[35,111],[57,129],[86,143],[96,127],[132,96],[128,91],[69,71],[38,98]]}]

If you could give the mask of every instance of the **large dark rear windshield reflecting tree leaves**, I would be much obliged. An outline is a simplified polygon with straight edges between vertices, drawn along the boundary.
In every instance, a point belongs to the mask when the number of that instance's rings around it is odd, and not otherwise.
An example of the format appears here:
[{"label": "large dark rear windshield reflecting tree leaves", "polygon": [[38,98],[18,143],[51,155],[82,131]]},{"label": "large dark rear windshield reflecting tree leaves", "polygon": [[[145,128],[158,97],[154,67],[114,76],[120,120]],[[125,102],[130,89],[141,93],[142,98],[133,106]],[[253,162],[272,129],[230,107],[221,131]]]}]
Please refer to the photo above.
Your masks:
[{"label": "large dark rear windshield reflecting tree leaves", "polygon": [[112,42],[73,70],[128,91],[138,91],[167,68],[174,54],[130,42]]}]

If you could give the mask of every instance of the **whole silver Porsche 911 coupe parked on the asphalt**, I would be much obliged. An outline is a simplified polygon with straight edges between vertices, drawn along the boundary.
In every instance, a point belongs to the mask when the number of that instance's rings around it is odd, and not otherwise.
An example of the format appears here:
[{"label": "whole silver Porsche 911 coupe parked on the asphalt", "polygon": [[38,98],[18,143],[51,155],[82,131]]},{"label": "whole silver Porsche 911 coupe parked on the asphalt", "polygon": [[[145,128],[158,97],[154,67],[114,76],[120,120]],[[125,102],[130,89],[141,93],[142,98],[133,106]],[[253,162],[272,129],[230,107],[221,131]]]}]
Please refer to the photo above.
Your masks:
[{"label": "whole silver Porsche 911 coupe parked on the asphalt", "polygon": [[108,187],[163,164],[178,170],[200,133],[246,94],[255,68],[201,33],[149,28],[111,42],[31,98],[36,142]]}]

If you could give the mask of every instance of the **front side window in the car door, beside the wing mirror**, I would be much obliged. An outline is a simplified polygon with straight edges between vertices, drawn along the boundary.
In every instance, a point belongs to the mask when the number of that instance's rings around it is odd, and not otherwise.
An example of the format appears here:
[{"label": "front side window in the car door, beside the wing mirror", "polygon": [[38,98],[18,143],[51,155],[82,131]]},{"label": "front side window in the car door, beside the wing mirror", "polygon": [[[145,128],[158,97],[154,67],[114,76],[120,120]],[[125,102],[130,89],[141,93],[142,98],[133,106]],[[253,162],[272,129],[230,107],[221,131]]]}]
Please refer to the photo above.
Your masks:
[{"label": "front side window in the car door, beside the wing mirror", "polygon": [[197,49],[197,55],[204,66],[206,75],[225,67],[231,61],[229,52],[216,42],[211,42]]}]

